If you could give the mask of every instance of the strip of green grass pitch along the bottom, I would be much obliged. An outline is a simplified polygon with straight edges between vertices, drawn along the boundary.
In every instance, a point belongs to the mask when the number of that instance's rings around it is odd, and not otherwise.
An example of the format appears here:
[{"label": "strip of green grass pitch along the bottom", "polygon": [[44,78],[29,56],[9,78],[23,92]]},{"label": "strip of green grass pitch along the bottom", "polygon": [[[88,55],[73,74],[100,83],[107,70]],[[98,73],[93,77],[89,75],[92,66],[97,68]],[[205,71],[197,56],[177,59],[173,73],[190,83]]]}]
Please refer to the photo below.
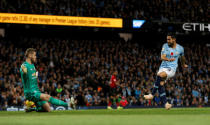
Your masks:
[{"label": "strip of green grass pitch along the bottom", "polygon": [[210,108],[2,111],[0,125],[210,125]]}]

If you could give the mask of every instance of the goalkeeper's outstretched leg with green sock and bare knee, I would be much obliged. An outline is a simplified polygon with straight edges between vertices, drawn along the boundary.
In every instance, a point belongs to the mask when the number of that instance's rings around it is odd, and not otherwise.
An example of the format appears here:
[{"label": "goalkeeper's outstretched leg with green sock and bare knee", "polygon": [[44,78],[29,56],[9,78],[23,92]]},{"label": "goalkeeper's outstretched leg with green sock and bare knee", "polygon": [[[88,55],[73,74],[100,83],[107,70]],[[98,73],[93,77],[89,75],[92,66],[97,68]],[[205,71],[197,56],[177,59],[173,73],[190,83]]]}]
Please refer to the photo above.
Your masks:
[{"label": "goalkeeper's outstretched leg with green sock and bare knee", "polygon": [[48,94],[43,94],[43,93],[41,93],[40,99],[41,99],[42,101],[50,102],[50,103],[53,104],[53,105],[68,107],[68,103],[66,103],[66,102],[64,102],[64,101],[62,101],[62,100],[53,98],[53,97],[51,97],[51,96],[48,95]]}]

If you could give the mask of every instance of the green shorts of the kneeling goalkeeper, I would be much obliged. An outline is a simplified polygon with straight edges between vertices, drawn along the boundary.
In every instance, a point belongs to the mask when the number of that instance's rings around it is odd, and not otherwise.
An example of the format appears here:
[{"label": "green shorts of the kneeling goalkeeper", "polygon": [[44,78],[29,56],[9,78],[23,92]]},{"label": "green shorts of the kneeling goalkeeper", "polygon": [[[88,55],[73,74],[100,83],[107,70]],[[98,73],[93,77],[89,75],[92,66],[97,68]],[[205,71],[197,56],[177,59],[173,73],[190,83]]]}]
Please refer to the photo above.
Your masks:
[{"label": "green shorts of the kneeling goalkeeper", "polygon": [[47,103],[47,101],[42,101],[40,99],[40,95],[41,95],[41,92],[39,91],[33,91],[33,92],[26,92],[24,93],[25,94],[25,98],[26,100],[29,100],[29,101],[33,101],[36,105],[36,108],[38,111],[42,111],[42,106]]}]

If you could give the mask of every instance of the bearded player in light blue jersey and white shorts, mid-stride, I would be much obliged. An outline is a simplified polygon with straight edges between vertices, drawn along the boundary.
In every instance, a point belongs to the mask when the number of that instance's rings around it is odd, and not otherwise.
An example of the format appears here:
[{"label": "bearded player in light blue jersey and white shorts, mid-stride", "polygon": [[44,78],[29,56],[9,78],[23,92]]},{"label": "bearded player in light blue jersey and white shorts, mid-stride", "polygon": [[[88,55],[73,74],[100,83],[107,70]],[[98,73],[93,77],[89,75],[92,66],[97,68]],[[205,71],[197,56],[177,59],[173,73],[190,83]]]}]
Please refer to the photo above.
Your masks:
[{"label": "bearded player in light blue jersey and white shorts, mid-stride", "polygon": [[175,75],[179,58],[181,59],[182,66],[187,68],[188,66],[185,64],[184,48],[176,43],[176,36],[170,33],[167,35],[167,43],[163,45],[161,50],[162,63],[157,73],[152,93],[144,95],[145,99],[153,99],[153,95],[158,90],[161,102],[164,104],[165,108],[170,109],[172,107],[172,105],[167,102],[164,84],[167,79]]}]

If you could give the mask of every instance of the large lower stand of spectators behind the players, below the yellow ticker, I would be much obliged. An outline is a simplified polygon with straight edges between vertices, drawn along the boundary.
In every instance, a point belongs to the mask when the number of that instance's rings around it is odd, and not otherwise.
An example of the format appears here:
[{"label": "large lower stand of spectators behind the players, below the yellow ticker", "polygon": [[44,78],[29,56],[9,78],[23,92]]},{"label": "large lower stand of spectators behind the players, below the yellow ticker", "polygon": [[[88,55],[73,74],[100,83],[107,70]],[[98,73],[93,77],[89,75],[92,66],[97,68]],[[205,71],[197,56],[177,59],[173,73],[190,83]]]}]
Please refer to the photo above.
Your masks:
[{"label": "large lower stand of spectators behind the players, below the yellow ticker", "polygon": [[[177,69],[167,81],[168,100],[174,106],[210,105],[209,48],[204,44],[182,43],[189,68]],[[123,40],[69,40],[59,38],[21,38],[19,42],[0,39],[0,109],[23,106],[24,93],[19,68],[28,47],[37,49],[36,70],[40,91],[79,106],[107,106],[111,98],[109,81],[118,71],[116,96],[130,106],[161,105],[158,93],[153,101],[143,95],[153,86],[161,63],[161,46]]]}]

